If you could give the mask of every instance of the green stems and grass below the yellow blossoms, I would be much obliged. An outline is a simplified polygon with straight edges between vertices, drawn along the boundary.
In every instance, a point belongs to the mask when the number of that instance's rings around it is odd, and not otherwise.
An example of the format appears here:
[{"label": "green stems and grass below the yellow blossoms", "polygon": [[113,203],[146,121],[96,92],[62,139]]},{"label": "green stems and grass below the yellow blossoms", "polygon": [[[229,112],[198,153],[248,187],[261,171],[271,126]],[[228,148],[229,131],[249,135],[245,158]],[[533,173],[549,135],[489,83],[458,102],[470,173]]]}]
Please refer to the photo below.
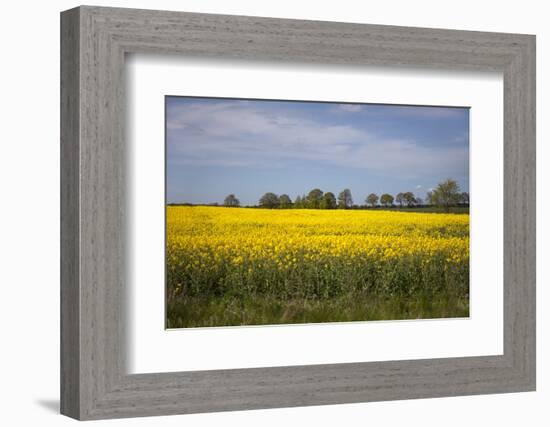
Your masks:
[{"label": "green stems and grass below the yellow blossoms", "polygon": [[[467,317],[469,268],[420,258],[376,266],[304,265],[295,275],[273,268],[247,276],[209,273],[200,286],[168,288],[168,328]],[[425,262],[425,260],[424,260]],[[287,273],[288,274],[288,273]],[[178,280],[181,280],[179,278]],[[189,280],[188,280],[189,282]]]}]

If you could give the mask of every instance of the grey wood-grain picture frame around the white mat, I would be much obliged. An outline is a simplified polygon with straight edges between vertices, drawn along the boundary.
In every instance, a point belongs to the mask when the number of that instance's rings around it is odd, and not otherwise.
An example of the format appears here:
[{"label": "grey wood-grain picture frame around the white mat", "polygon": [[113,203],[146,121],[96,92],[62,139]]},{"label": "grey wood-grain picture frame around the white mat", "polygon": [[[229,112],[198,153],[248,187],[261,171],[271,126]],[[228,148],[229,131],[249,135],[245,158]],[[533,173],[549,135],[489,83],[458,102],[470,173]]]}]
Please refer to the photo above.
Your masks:
[{"label": "grey wood-grain picture frame around the white mat", "polygon": [[[504,353],[127,374],[126,53],[504,78]],[[535,390],[535,37],[83,6],[61,14],[61,412],[77,419]],[[435,404],[435,403],[434,403]]]}]

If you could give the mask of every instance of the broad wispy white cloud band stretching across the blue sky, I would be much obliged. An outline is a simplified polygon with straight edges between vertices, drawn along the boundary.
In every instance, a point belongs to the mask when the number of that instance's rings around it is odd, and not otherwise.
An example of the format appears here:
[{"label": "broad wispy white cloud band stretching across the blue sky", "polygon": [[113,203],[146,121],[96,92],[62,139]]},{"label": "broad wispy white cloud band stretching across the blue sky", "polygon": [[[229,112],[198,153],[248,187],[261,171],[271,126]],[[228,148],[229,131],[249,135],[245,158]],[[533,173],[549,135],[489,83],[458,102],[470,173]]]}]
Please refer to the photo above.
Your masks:
[{"label": "broad wispy white cloud band stretching across the blue sky", "polygon": [[376,129],[324,123],[240,101],[173,105],[167,130],[168,160],[177,164],[277,167],[301,160],[398,176],[452,175],[463,170],[468,156],[464,147],[428,148],[414,140],[380,138]]}]

